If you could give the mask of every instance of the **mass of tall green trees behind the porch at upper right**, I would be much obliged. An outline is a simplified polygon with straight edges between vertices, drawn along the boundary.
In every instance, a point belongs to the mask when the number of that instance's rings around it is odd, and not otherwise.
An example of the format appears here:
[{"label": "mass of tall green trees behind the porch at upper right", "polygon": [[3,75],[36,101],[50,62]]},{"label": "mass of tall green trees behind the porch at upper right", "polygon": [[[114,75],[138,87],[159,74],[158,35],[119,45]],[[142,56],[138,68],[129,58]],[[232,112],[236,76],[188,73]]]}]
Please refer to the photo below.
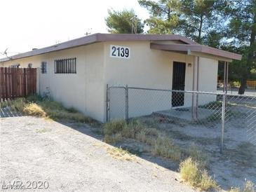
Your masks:
[{"label": "mass of tall green trees behind the porch at upper right", "polygon": [[[145,21],[152,34],[181,34],[215,48],[243,55],[230,65],[231,80],[256,76],[256,0],[138,0],[150,17]],[[223,64],[219,72],[222,76]],[[222,76],[223,78],[223,76]]]}]

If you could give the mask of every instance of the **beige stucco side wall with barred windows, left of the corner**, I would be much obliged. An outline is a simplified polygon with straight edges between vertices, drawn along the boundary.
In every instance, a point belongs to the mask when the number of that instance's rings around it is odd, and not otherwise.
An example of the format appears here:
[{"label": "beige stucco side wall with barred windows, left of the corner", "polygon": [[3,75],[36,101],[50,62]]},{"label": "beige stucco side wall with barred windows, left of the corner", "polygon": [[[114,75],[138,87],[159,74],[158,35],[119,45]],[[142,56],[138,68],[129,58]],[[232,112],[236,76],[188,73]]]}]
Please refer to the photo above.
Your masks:
[{"label": "beige stucco side wall with barred windows, left of the corner", "polygon": [[[47,73],[41,74],[41,71],[38,73],[38,88],[41,95],[48,87],[53,100],[61,102],[65,107],[74,107],[98,121],[103,121],[105,104],[103,99],[103,51],[102,43],[95,43],[4,62],[4,67],[17,63],[21,67],[27,67],[28,63],[32,63],[32,67],[41,67],[41,62],[47,62]],[[69,57],[76,57],[76,74],[55,74],[54,60]]]}]

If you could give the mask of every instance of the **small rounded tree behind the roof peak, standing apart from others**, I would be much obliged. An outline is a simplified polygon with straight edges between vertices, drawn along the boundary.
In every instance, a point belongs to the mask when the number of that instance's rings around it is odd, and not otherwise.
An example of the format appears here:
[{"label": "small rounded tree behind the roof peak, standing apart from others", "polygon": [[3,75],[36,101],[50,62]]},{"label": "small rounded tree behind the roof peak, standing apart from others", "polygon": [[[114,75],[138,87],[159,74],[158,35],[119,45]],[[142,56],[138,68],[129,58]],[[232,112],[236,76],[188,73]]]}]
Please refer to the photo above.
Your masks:
[{"label": "small rounded tree behind the roof peak, standing apart from others", "polygon": [[[131,34],[143,33],[144,23],[137,18],[135,11],[108,11],[108,16],[105,19],[108,31],[112,34]],[[133,31],[132,31],[133,30]]]}]

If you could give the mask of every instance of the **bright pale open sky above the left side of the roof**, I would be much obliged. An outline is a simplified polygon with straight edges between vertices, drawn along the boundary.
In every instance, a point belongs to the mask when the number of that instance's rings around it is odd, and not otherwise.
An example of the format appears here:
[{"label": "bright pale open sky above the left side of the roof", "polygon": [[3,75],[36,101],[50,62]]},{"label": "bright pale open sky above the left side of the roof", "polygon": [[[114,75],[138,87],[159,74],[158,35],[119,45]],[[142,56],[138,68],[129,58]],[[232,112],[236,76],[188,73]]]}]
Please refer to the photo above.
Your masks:
[{"label": "bright pale open sky above the left side of the roof", "polygon": [[75,39],[86,32],[107,32],[109,8],[133,8],[142,20],[148,17],[137,0],[1,0],[0,53],[8,48],[13,55]]}]

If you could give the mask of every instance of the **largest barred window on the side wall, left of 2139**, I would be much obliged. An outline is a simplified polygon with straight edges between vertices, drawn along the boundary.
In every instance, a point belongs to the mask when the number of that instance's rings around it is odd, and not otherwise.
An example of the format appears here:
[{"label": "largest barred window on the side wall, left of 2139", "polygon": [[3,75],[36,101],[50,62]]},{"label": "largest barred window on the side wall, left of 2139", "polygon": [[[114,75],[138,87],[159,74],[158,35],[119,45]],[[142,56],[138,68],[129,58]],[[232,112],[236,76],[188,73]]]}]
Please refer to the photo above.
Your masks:
[{"label": "largest barred window on the side wall, left of 2139", "polygon": [[54,61],[55,74],[76,74],[76,58]]}]

